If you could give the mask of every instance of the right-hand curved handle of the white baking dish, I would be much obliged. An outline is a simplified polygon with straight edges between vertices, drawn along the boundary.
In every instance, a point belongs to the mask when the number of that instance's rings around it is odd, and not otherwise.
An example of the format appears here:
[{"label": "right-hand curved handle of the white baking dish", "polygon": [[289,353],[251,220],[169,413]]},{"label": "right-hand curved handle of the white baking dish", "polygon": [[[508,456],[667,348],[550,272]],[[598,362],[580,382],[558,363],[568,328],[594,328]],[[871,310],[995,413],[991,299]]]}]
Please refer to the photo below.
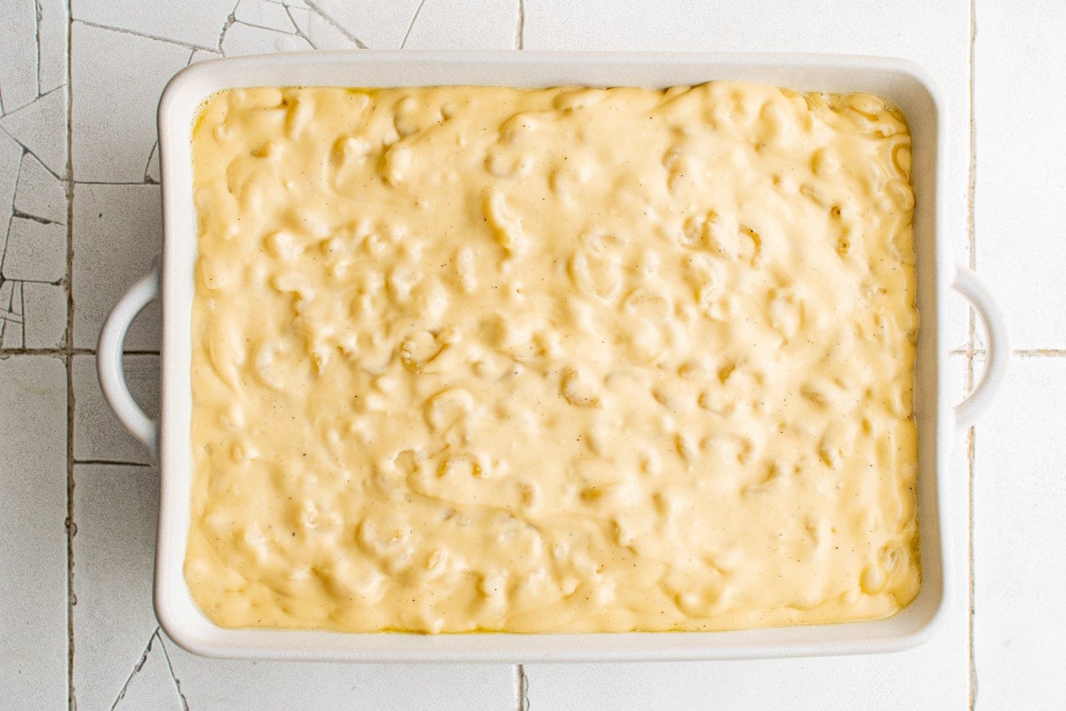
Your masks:
[{"label": "right-hand curved handle of the white baking dish", "polygon": [[1007,361],[1011,359],[1011,345],[1007,342],[1006,321],[999,304],[976,273],[968,266],[959,264],[955,269],[955,279],[952,288],[970,303],[985,327],[988,349],[985,356],[985,371],[981,374],[973,390],[966,400],[955,405],[955,426],[964,432],[976,422],[991,404],[996,392],[1006,377]]}]

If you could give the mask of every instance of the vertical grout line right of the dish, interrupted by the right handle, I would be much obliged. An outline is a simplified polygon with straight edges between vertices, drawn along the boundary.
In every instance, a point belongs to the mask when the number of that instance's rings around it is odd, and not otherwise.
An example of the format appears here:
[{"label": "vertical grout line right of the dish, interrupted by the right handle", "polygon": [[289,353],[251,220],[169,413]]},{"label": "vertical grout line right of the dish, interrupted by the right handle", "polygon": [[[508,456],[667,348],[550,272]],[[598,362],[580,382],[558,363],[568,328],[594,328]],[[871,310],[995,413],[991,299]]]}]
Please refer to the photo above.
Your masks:
[{"label": "vertical grout line right of the dish, interrupted by the right handle", "polygon": [[[976,11],[976,0],[970,0],[970,164],[969,164],[969,175],[967,179],[967,240],[969,242],[969,261],[970,269],[976,271],[978,268],[978,241],[976,241],[976,214],[974,212],[974,203],[976,197],[976,175],[978,175],[978,124],[976,124],[976,113],[975,106],[976,101],[974,99],[976,91],[976,44],[978,44],[978,11]],[[969,392],[973,388],[973,343],[976,336],[976,324],[974,322],[973,309],[968,309],[969,312],[969,342],[967,343],[967,355],[966,355],[966,391]],[[969,568],[969,615],[967,616],[967,646],[969,649],[969,681],[970,681],[970,698],[969,708],[970,711],[974,711],[978,705],[978,662],[976,656],[974,655],[973,648],[973,629],[974,629],[974,591],[975,591],[975,579],[974,579],[974,568],[973,568],[973,512],[974,512],[974,454],[976,452],[976,431],[974,427],[970,427],[969,432],[966,434],[966,463],[967,463],[967,479],[969,480],[969,497],[967,501],[967,506],[969,511],[967,512],[967,518],[969,519],[969,528],[967,530],[967,558],[968,558],[968,568]]]}]

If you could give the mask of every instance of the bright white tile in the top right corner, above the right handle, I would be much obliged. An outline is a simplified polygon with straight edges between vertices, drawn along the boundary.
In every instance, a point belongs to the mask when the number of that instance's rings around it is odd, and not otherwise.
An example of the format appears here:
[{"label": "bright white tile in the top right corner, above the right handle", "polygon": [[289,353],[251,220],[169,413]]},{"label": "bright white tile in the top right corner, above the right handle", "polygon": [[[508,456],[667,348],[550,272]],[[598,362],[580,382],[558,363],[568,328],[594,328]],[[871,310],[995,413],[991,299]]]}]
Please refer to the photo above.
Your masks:
[{"label": "bright white tile in the top right corner, above the right handle", "polygon": [[1066,348],[1066,132],[1056,120],[1019,125],[1020,106],[1066,113],[1066,4],[976,5],[974,49],[978,269],[1000,294],[1014,348]]}]

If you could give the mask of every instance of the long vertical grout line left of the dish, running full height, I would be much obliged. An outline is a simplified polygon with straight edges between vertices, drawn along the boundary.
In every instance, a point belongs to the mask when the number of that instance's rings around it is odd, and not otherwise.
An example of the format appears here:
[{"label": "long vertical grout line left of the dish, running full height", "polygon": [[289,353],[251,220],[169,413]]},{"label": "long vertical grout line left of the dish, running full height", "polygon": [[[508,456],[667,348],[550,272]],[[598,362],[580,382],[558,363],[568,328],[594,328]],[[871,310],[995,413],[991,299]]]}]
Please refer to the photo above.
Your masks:
[{"label": "long vertical grout line left of the dish, running full height", "polygon": [[63,342],[63,361],[66,365],[67,381],[67,708],[75,711],[78,708],[78,702],[75,700],[74,689],[74,608],[78,603],[78,598],[74,592],[74,537],[78,532],[78,524],[74,520],[74,12],[70,7],[70,0],[67,0],[65,4],[67,12],[67,80],[65,86],[67,160],[64,187],[67,198],[67,327],[66,338]]}]

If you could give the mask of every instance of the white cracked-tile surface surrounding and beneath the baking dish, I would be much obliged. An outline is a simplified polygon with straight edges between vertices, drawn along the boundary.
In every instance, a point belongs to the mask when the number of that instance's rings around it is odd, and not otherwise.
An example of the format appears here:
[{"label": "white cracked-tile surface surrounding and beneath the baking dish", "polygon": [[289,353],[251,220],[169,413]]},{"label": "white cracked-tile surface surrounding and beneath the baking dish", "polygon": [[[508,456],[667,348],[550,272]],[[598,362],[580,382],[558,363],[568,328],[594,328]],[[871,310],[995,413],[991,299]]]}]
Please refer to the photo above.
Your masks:
[{"label": "white cracked-tile surface surrounding and beneath the baking dish", "polygon": [[[1066,5],[1006,0],[0,0],[0,708],[1066,708]],[[912,59],[949,100],[950,240],[1012,372],[956,452],[947,624],[909,652],[588,665],[216,662],[151,611],[158,482],[94,349],[160,243],[155,108],[203,59],[300,49],[641,49]],[[953,392],[984,338],[951,312]],[[127,372],[158,399],[158,311]],[[972,494],[972,496],[971,496]]]}]

